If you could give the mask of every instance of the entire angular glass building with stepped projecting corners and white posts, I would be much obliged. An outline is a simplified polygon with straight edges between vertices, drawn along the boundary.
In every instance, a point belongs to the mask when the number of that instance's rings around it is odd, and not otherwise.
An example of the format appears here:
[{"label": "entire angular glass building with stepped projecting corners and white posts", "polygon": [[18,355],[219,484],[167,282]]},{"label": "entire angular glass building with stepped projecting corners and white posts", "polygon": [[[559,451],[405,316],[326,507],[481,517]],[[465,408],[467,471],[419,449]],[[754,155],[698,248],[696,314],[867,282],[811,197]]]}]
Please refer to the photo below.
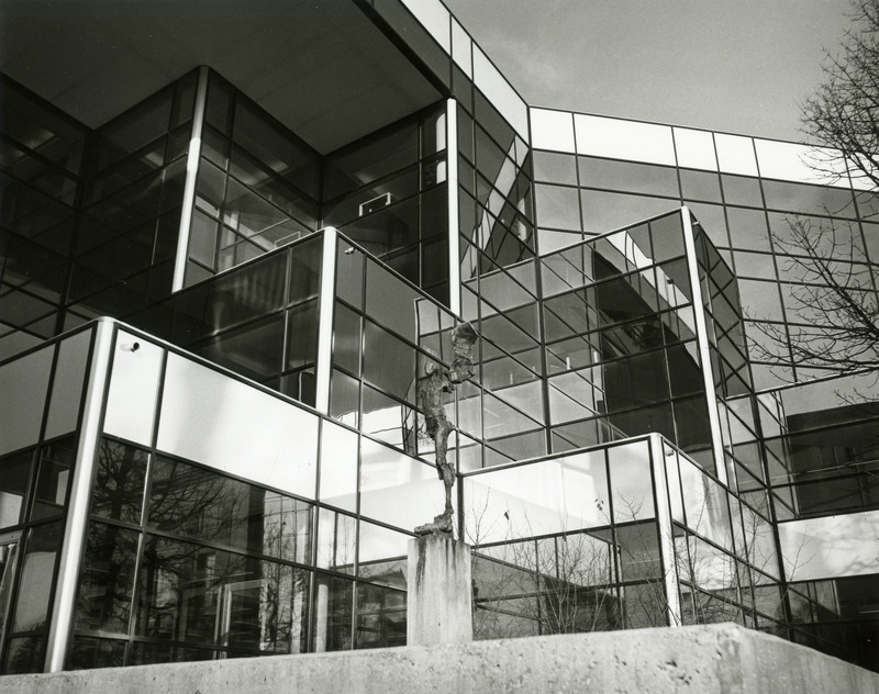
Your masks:
[{"label": "entire angular glass building with stepped projecting corners and white posts", "polygon": [[736,622],[876,669],[876,377],[760,349],[791,221],[876,305],[875,192],[530,108],[438,0],[311,4],[4,5],[0,672],[403,645],[461,321],[476,638]]}]

